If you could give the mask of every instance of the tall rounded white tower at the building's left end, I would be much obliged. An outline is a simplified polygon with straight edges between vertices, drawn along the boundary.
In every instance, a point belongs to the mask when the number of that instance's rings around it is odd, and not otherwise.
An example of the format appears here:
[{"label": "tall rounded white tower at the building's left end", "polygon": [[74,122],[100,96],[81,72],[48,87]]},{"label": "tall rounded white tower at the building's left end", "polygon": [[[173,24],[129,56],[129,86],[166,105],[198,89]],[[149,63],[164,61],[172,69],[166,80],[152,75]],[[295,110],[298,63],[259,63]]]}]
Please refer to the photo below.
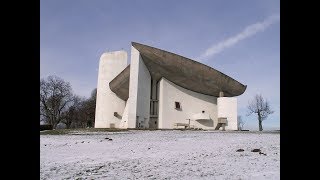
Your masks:
[{"label": "tall rounded white tower at the building's left end", "polygon": [[125,101],[110,90],[109,83],[127,67],[127,52],[114,51],[101,55],[99,62],[95,128],[110,128],[114,123],[119,128],[121,117],[115,117],[114,112],[121,116]]}]

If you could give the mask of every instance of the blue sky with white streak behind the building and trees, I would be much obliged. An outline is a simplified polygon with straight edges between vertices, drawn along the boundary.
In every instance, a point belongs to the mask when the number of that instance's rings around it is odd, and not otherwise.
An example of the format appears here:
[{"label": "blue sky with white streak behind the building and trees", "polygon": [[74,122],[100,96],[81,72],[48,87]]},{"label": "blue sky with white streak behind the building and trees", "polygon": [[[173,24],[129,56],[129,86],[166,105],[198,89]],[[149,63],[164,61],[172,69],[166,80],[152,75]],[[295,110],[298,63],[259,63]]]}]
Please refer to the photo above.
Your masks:
[{"label": "blue sky with white streak behind the building and trees", "polygon": [[89,97],[106,51],[131,42],[207,64],[247,85],[238,97],[246,129],[257,130],[247,104],[262,94],[275,111],[264,129],[280,128],[279,0],[41,0],[40,78],[57,75]]}]

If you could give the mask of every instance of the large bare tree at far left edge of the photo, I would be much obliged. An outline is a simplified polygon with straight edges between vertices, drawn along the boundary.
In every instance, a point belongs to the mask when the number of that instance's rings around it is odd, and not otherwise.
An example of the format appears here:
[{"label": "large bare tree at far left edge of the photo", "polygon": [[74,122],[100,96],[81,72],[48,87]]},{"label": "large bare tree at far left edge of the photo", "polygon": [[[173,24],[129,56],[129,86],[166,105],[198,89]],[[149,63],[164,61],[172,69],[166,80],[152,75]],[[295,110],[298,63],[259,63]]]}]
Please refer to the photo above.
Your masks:
[{"label": "large bare tree at far left edge of the photo", "polygon": [[40,80],[40,119],[56,128],[73,101],[70,83],[57,76]]}]

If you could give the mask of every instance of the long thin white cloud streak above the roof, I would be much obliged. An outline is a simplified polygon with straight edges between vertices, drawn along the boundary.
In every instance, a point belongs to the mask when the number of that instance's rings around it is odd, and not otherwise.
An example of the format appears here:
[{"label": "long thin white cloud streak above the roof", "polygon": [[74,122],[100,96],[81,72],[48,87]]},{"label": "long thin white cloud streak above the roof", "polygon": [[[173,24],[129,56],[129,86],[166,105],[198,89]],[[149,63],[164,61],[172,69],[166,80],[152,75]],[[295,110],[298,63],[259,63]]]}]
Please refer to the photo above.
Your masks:
[{"label": "long thin white cloud streak above the roof", "polygon": [[262,22],[257,22],[254,24],[251,24],[247,26],[242,32],[236,34],[235,36],[229,37],[228,39],[225,39],[218,44],[214,44],[204,53],[202,53],[198,58],[198,60],[203,61],[209,57],[213,57],[214,55],[220,53],[224,49],[231,47],[238,43],[241,40],[244,40],[250,36],[255,35],[258,32],[264,31],[266,28],[268,28],[270,25],[278,22],[280,20],[280,15],[279,14],[274,14],[266,18]]}]

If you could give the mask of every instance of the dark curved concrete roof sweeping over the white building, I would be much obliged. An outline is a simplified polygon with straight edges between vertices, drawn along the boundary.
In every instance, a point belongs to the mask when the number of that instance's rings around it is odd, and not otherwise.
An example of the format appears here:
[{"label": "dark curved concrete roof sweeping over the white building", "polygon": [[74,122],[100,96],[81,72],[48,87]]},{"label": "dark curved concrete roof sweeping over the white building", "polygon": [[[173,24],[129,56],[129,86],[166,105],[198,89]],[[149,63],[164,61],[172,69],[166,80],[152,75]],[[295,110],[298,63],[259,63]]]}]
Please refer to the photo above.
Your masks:
[{"label": "dark curved concrete roof sweeping over the white building", "polygon": [[[132,46],[140,52],[156,81],[165,77],[178,86],[215,97],[219,97],[221,91],[225,97],[239,96],[247,88],[222,72],[192,59],[136,42],[132,42]],[[109,84],[110,89],[124,100],[129,96],[129,74],[130,68],[127,67]]]}]

